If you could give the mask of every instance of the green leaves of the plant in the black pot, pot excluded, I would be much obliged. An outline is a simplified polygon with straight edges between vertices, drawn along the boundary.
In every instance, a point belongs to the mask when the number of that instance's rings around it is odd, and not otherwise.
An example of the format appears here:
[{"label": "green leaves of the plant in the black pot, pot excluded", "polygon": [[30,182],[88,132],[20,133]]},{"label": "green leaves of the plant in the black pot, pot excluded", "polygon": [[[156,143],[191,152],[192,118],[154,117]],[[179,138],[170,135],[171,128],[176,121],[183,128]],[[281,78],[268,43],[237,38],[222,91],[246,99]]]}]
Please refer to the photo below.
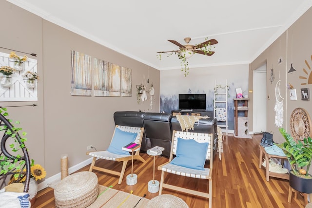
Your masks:
[{"label": "green leaves of the plant in the black pot, pot excluded", "polygon": [[309,168],[312,159],[312,139],[309,136],[304,138],[303,141],[296,142],[292,136],[280,128],[279,132],[284,136],[286,142],[275,144],[281,148],[291,164],[292,173],[298,177],[312,178],[309,174]]}]

